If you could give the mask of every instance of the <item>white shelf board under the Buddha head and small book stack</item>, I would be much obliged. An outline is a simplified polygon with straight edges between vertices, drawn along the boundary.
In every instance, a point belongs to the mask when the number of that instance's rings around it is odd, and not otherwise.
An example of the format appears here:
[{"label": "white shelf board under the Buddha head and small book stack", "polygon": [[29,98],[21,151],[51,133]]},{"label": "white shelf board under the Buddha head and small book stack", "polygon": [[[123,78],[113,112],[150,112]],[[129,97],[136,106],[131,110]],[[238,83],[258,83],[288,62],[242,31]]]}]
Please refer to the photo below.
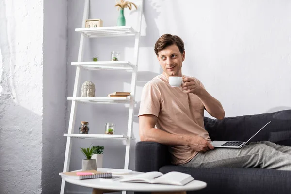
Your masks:
[{"label": "white shelf board under the Buddha head and small book stack", "polygon": [[130,103],[130,99],[128,97],[68,97],[67,99],[78,102],[100,104]]}]

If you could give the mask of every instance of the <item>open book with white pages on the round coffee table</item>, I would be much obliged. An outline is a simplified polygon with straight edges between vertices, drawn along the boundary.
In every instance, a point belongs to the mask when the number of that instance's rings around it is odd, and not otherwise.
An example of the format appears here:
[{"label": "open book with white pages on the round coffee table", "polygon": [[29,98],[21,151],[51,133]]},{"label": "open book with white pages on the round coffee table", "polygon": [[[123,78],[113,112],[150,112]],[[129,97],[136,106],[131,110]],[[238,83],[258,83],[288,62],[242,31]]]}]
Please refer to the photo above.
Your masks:
[{"label": "open book with white pages on the round coffee table", "polygon": [[162,174],[161,172],[147,172],[138,175],[133,175],[129,178],[123,178],[120,182],[142,182],[142,183],[156,183],[169,185],[185,185],[191,182],[194,178],[191,175],[181,172],[168,172]]}]

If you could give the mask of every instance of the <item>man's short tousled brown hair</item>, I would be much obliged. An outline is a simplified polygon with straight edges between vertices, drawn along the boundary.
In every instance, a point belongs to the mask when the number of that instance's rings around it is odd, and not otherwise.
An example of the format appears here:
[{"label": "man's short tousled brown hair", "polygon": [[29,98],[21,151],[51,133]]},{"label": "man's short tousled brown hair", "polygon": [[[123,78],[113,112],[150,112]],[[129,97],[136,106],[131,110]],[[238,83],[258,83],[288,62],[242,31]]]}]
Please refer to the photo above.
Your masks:
[{"label": "man's short tousled brown hair", "polygon": [[181,54],[183,54],[183,52],[185,51],[184,42],[179,36],[166,33],[163,34],[155,44],[156,55],[158,56],[159,51],[171,45],[177,45]]}]

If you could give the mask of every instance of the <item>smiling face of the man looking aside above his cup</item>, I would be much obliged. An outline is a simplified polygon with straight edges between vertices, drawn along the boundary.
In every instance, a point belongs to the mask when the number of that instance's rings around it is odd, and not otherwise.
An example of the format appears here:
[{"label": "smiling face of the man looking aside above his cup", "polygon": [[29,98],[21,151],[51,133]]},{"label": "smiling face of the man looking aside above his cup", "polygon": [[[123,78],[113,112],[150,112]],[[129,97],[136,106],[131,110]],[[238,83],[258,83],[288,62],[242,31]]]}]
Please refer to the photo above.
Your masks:
[{"label": "smiling face of the man looking aside above his cup", "polygon": [[178,46],[174,44],[161,50],[158,54],[157,57],[165,76],[182,76],[181,70],[185,51],[181,54]]}]

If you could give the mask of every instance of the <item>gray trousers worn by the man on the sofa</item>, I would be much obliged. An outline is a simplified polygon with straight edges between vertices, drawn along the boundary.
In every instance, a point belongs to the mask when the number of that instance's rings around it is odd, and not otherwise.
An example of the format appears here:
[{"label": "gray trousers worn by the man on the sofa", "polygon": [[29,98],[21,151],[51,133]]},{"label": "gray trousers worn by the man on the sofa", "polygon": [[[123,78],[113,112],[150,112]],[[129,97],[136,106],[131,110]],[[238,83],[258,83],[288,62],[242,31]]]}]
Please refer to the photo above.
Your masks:
[{"label": "gray trousers worn by the man on the sofa", "polygon": [[184,167],[269,168],[291,170],[291,147],[269,141],[251,142],[241,149],[215,148],[198,153]]}]

